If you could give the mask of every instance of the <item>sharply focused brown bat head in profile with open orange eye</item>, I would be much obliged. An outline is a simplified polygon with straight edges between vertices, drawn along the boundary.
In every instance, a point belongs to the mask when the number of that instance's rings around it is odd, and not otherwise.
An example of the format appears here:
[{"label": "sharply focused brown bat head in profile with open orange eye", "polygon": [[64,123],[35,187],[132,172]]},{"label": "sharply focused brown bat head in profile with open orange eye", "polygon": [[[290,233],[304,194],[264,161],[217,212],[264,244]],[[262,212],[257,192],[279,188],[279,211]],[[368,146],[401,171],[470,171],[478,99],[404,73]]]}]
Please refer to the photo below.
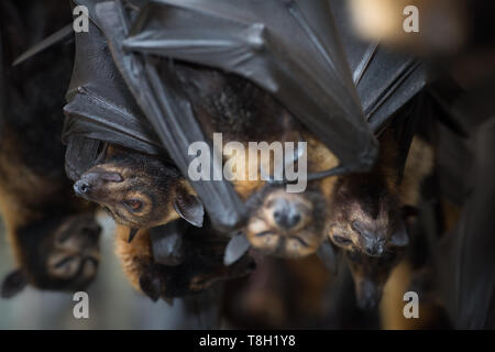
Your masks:
[{"label": "sharply focused brown bat head in profile with open orange eye", "polygon": [[178,169],[144,154],[122,151],[81,175],[76,195],[101,205],[116,222],[147,229],[178,217],[201,227],[201,201]]}]

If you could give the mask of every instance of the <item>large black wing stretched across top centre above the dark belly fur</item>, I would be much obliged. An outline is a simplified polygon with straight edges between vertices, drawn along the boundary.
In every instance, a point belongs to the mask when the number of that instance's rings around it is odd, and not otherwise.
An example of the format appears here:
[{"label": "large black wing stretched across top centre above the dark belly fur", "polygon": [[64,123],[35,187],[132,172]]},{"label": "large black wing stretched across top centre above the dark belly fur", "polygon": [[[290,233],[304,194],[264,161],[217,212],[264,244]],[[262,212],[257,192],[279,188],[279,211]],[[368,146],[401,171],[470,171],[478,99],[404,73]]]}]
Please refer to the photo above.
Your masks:
[{"label": "large black wing stretched across top centre above the dark belly fur", "polygon": [[374,163],[376,141],[327,1],[150,1],[121,45],[134,56],[154,54],[243,76],[288,108],[345,170],[367,170]]}]

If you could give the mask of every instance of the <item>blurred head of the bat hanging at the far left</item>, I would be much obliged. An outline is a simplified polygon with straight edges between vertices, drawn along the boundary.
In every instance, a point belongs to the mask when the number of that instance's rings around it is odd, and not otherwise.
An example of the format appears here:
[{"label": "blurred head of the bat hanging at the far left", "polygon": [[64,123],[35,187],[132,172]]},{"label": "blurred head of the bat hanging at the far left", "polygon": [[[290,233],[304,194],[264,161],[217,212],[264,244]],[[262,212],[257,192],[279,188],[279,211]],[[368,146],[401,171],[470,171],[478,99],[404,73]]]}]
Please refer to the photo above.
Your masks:
[{"label": "blurred head of the bat hanging at the far left", "polygon": [[92,213],[47,217],[18,230],[21,268],[9,274],[1,296],[26,284],[41,289],[80,290],[96,277],[101,228]]}]

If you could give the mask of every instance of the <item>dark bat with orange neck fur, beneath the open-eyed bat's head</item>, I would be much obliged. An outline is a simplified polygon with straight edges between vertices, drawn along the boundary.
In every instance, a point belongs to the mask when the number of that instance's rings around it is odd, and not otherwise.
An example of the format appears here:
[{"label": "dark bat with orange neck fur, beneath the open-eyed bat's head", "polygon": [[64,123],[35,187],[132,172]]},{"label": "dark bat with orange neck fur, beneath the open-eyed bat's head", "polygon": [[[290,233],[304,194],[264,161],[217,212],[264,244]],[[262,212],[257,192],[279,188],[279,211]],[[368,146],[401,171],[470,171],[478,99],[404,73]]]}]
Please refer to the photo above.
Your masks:
[{"label": "dark bat with orange neck fur, beneath the open-eyed bat's head", "polygon": [[[183,223],[177,224],[177,221]],[[152,300],[168,300],[200,293],[217,282],[248,275],[254,268],[250,256],[244,255],[235,264],[224,266],[223,252],[228,241],[208,228],[189,227],[179,219],[164,227],[140,230],[129,243],[129,229],[118,226],[117,254],[131,285]],[[157,262],[157,256],[164,253],[157,245],[170,234],[180,238],[179,248],[169,251],[176,256],[175,261],[170,262],[168,257],[167,262]],[[168,243],[177,243],[177,240]]]}]

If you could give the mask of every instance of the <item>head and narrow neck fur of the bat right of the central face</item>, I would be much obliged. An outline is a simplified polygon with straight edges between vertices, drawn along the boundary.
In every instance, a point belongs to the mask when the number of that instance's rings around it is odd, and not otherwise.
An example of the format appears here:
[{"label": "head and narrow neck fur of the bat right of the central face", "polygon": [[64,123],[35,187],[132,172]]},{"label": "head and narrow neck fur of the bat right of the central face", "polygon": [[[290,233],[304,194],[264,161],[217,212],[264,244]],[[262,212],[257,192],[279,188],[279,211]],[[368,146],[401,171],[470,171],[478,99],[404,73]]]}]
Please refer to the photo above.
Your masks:
[{"label": "head and narrow neck fur of the bat right of the central face", "polygon": [[381,255],[394,233],[402,231],[395,146],[389,131],[381,139],[381,155],[371,173],[338,180],[328,219],[329,238],[336,245]]}]

